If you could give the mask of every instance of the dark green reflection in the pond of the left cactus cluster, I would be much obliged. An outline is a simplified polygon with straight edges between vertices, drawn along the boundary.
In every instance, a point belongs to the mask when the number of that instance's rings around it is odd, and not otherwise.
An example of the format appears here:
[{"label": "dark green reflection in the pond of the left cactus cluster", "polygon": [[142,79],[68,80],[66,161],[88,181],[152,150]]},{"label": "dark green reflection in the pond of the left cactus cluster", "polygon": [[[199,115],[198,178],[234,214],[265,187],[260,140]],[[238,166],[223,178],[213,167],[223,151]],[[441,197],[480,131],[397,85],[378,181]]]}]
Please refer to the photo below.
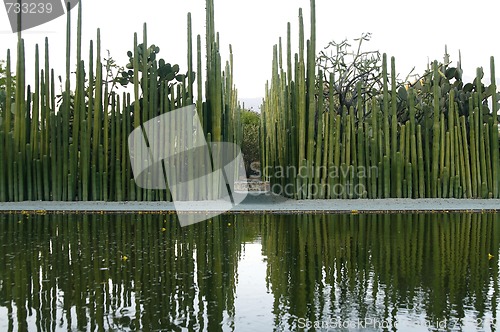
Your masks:
[{"label": "dark green reflection in the pond of the left cactus cluster", "polygon": [[182,229],[165,215],[19,218],[0,223],[0,309],[15,312],[2,324],[52,330],[57,316],[71,330],[212,331],[235,313],[234,216]]}]

